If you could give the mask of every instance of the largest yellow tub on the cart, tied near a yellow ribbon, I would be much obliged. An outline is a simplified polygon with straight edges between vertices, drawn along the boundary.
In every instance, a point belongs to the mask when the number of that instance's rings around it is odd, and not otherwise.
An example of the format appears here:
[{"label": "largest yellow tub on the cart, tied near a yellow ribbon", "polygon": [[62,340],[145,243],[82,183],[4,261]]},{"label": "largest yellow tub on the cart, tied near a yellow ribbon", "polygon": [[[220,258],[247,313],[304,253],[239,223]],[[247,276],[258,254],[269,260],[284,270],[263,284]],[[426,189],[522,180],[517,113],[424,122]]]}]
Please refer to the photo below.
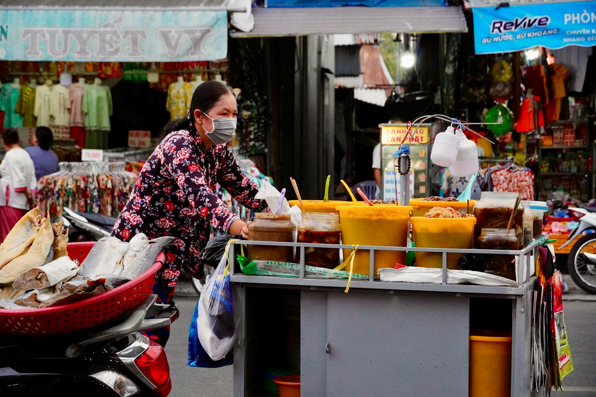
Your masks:
[{"label": "largest yellow tub on the cart, tied near a yellow ribbon", "polygon": [[[409,211],[405,205],[342,205],[337,207],[342,224],[342,242],[347,245],[405,247],[409,232]],[[351,249],[344,249],[347,258]],[[405,263],[405,251],[375,251],[374,269]],[[356,252],[354,273],[369,274],[370,253]],[[349,267],[344,269],[349,271]]]}]

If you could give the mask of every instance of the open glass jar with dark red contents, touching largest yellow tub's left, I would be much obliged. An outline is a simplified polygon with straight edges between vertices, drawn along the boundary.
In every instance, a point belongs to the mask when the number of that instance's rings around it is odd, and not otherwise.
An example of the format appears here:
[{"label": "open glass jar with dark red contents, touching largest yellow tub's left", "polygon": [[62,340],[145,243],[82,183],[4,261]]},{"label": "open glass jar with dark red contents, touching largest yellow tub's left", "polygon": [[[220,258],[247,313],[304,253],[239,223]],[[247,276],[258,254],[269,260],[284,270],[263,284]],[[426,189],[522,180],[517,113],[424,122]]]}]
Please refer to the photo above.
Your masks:
[{"label": "open glass jar with dark red contents, touching largest yellow tub's left", "polygon": [[[341,235],[339,215],[306,212],[302,214],[302,221],[298,225],[297,241],[312,244],[339,244]],[[304,258],[307,265],[333,269],[339,266],[339,248],[306,247]]]}]

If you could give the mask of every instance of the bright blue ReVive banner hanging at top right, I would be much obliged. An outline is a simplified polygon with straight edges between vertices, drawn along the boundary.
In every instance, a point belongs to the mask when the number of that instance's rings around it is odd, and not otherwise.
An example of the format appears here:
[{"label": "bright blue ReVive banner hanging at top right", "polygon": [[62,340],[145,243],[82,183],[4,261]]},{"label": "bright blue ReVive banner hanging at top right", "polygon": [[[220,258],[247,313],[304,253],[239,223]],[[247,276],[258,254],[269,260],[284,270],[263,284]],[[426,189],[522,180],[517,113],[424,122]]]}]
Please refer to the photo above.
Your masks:
[{"label": "bright blue ReVive banner hanging at top right", "polygon": [[476,54],[596,45],[596,1],[473,8]]}]

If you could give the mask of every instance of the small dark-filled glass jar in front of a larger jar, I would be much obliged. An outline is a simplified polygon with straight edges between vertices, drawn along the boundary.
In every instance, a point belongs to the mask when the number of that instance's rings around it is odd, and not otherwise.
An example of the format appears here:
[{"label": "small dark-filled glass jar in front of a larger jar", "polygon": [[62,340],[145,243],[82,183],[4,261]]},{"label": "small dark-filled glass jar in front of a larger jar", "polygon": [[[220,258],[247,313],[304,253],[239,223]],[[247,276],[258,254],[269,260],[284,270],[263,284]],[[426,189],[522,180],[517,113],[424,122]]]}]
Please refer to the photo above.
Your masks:
[{"label": "small dark-filled glass jar in front of a larger jar", "polygon": [[[477,249],[507,249],[517,251],[518,240],[515,230],[510,229],[482,229],[476,240]],[[516,279],[515,255],[484,254],[485,273]]]}]

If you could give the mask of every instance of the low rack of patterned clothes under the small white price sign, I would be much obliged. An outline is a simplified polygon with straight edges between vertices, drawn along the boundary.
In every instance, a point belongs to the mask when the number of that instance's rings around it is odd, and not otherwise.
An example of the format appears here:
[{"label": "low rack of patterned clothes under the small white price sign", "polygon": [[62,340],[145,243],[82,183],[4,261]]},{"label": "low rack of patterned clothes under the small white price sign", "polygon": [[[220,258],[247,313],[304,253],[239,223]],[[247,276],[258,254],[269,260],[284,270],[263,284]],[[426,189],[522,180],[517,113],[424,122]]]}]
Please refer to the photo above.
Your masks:
[{"label": "low rack of patterned clothes under the small white price sign", "polygon": [[61,219],[64,207],[118,217],[136,180],[125,166],[125,162],[61,163],[60,171],[39,179],[40,212],[49,211],[52,221]]}]

